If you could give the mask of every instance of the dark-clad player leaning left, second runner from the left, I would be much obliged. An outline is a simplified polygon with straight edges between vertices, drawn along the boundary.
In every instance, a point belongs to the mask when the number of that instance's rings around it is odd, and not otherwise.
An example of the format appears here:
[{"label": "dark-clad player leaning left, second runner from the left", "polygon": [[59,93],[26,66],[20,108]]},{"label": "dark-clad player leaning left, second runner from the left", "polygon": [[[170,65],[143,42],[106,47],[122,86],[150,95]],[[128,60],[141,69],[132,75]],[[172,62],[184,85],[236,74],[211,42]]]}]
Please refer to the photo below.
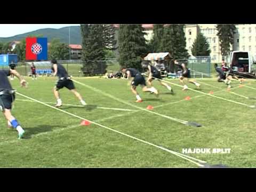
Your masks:
[{"label": "dark-clad player leaning left, second runner from the left", "polygon": [[86,102],[83,100],[81,94],[79,94],[76,91],[75,85],[74,85],[73,81],[70,79],[70,77],[68,76],[68,73],[67,73],[66,69],[62,65],[57,63],[57,61],[55,59],[53,59],[51,61],[51,63],[52,63],[52,70],[54,71],[53,75],[54,76],[57,75],[59,77],[59,80],[58,80],[57,84],[54,86],[54,89],[53,89],[54,96],[57,99],[57,104],[55,105],[55,107],[61,107],[62,106],[62,101],[60,99],[59,90],[62,89],[63,87],[66,87],[72,93],[74,93],[74,95],[77,97],[77,99],[79,99],[81,104],[83,106],[85,106]]}]

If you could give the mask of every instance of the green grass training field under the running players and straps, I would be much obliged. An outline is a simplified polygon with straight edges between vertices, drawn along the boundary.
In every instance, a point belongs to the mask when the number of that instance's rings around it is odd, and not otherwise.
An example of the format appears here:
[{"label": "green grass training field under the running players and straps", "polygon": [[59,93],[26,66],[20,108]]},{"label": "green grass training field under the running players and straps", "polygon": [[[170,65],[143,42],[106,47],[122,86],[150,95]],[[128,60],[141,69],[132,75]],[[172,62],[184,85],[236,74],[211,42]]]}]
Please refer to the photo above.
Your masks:
[{"label": "green grass training field under the running players and straps", "polygon": [[[13,87],[19,93],[54,105],[52,87],[55,78],[26,79],[29,82],[27,89],[21,88],[17,79],[12,81]],[[200,91],[212,91],[214,96],[227,100],[190,90],[184,92],[178,86],[173,86],[175,94],[171,95],[154,81],[161,92],[159,97],[142,93],[138,87],[144,102],[135,103],[126,80],[74,79],[85,84],[75,83],[88,106],[80,106],[68,90],[62,89],[64,105],[61,109],[71,114],[178,153],[182,153],[183,148],[230,148],[230,154],[187,155],[208,164],[255,167],[256,109],[249,106],[255,105],[256,100],[228,92],[226,85],[216,82],[215,78],[198,79],[204,83]],[[176,79],[166,81],[179,84]],[[248,80],[244,84],[256,89],[255,81]],[[255,95],[256,90],[238,87],[238,82],[234,81],[233,86],[231,92],[246,97]],[[189,87],[195,89],[194,85]],[[185,100],[188,96],[191,99]],[[153,106],[150,111],[157,114],[145,110],[148,105]],[[81,126],[81,119],[18,94],[13,115],[25,128],[26,135],[25,139],[18,140],[17,132],[8,129],[3,116],[0,117],[0,167],[197,167],[186,159],[101,126]],[[203,126],[184,125],[168,117]]]}]

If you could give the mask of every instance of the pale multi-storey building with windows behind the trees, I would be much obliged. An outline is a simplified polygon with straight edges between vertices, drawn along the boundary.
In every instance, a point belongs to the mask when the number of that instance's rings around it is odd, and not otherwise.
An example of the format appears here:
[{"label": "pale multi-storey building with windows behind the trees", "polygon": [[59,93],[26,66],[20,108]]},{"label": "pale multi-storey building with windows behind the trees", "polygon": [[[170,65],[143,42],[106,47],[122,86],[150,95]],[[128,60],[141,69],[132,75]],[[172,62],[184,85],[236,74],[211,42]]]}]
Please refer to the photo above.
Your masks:
[{"label": "pale multi-storey building with windows behind the trees", "polygon": [[[217,36],[217,24],[185,24],[185,34],[188,53],[192,55],[192,45],[198,33],[202,33],[210,44],[212,62],[221,62],[222,55],[220,51],[220,42]],[[119,25],[115,25],[119,27]],[[153,24],[142,24],[149,41],[153,37]],[[256,60],[256,24],[236,24],[236,33],[234,35],[233,51],[249,51]]]}]

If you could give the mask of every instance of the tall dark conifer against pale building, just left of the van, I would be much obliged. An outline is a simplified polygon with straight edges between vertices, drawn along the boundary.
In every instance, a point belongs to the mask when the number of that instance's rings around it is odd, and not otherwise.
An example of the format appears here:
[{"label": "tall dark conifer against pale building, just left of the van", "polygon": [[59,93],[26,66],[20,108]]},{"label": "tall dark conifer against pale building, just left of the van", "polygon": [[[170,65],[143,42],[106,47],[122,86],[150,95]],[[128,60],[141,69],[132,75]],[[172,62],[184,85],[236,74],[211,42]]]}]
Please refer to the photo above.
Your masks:
[{"label": "tall dark conifer against pale building, just left of the van", "polygon": [[234,24],[218,24],[216,28],[218,30],[217,36],[220,41],[221,54],[222,56],[227,57],[230,53],[230,45],[233,45],[234,43],[236,26]]}]

